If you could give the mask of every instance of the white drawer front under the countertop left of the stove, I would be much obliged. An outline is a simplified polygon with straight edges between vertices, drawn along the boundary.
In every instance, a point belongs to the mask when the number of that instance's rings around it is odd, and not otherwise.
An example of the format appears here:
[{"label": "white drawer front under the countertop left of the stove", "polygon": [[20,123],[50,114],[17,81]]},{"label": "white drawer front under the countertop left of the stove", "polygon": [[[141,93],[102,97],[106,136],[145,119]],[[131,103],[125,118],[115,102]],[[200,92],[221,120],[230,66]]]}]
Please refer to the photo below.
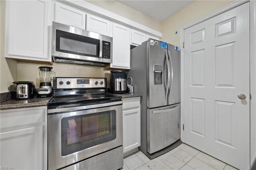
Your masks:
[{"label": "white drawer front under the countertop left of the stove", "polygon": [[43,123],[44,108],[40,109],[12,109],[1,111],[0,128],[18,127],[32,123]]}]

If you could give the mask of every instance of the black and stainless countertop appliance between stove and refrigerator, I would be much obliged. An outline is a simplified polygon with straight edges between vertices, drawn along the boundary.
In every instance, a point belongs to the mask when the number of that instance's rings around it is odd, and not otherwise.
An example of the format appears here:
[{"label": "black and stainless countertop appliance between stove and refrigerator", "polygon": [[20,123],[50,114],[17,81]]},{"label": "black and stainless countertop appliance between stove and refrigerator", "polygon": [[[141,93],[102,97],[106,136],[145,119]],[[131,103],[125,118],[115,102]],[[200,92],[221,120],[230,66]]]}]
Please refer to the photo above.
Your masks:
[{"label": "black and stainless countertop appliance between stove and refrigerator", "polygon": [[113,94],[122,94],[127,92],[127,74],[126,72],[110,71],[110,92]]}]

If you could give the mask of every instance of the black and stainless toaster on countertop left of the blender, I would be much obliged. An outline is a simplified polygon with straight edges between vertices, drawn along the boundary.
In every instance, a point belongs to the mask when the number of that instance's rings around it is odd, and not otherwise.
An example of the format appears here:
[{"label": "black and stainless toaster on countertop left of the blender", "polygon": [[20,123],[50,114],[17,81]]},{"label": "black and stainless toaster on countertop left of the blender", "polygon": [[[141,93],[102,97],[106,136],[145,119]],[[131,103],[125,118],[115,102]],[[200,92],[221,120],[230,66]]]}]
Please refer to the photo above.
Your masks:
[{"label": "black and stainless toaster on countertop left of the blender", "polygon": [[36,95],[34,82],[12,82],[15,84],[14,92],[11,92],[11,99],[30,99]]}]

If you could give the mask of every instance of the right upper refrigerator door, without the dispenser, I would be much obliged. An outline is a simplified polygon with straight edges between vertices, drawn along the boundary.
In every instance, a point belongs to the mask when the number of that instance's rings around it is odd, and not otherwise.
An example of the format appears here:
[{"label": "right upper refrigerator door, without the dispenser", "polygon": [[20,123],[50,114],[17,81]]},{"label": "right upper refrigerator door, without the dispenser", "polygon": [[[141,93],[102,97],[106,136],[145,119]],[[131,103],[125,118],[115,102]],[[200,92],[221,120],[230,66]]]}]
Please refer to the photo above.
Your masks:
[{"label": "right upper refrigerator door, without the dispenser", "polygon": [[180,103],[180,51],[174,49],[174,45],[168,44],[168,55],[170,57],[170,91],[168,105]]}]

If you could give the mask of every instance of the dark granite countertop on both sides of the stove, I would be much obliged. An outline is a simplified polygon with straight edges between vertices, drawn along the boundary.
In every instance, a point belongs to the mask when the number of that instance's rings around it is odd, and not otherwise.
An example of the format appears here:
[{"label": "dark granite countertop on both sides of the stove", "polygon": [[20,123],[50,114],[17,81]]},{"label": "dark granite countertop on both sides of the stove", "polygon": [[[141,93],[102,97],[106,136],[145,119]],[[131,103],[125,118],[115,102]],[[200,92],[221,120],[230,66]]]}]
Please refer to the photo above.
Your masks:
[{"label": "dark granite countertop on both sides of the stove", "polygon": [[[116,94],[118,96],[122,96],[122,98],[135,98],[141,97],[141,94]],[[7,100],[5,102],[0,103],[0,110],[7,110],[7,109],[20,109],[26,107],[40,107],[40,106],[47,106],[48,101],[52,97],[49,98],[33,98],[27,100]]]}]

